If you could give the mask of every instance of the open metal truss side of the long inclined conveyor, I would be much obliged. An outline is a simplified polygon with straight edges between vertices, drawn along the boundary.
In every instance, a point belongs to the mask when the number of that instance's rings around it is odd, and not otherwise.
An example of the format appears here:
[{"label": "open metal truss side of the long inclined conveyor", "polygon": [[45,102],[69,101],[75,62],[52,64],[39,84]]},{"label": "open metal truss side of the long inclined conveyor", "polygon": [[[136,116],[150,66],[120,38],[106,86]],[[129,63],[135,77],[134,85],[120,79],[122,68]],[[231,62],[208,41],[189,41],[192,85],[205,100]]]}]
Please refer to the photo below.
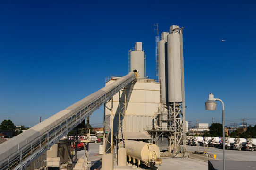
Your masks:
[{"label": "open metal truss side of the long inclined conveyor", "polygon": [[[112,96],[118,93],[123,87],[135,79],[135,74],[126,77],[124,80],[109,89],[88,103],[85,107],[80,108],[65,120],[47,130],[39,137],[34,138],[30,143],[19,148],[15,153],[10,154],[7,158],[0,158],[0,170],[23,170],[37,157],[48,150],[53,144],[58,142],[63,136],[68,134],[73,128],[85,120],[90,114],[97,110],[102,104],[109,101]],[[43,128],[43,127],[42,127]],[[20,134],[22,135],[22,134]],[[6,141],[8,143],[8,141]]]}]

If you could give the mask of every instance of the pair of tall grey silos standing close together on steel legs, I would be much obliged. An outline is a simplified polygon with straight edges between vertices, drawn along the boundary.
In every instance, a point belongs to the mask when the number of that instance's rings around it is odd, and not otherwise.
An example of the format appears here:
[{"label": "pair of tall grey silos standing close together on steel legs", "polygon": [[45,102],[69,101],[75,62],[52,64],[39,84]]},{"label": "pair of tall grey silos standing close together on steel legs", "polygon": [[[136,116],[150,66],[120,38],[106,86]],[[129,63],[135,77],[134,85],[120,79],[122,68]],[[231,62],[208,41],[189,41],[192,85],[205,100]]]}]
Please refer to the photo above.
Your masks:
[{"label": "pair of tall grey silos standing close together on steel legs", "polygon": [[183,45],[182,30],[172,25],[169,32],[162,32],[158,43],[159,80],[161,84],[161,101],[182,102],[182,66]]}]

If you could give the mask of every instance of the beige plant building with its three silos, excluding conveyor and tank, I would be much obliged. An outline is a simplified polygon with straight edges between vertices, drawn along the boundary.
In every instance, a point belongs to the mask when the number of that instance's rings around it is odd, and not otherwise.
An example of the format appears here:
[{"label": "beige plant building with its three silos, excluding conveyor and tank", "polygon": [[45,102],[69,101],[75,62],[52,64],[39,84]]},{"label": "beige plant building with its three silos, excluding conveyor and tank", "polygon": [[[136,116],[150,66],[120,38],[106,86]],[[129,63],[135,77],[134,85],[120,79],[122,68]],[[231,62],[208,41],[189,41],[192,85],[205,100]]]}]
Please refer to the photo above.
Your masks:
[{"label": "beige plant building with its three silos, excluding conveyor and tank", "polygon": [[[182,123],[185,122],[182,29],[173,25],[170,32],[162,32],[156,50],[158,80],[145,77],[142,42],[136,42],[129,51],[129,71],[136,70],[138,78],[105,104],[107,153],[112,153],[113,147],[123,147],[122,141],[126,139],[154,143],[162,151],[180,152],[179,144],[188,128]],[[106,85],[118,79],[110,76]]]}]

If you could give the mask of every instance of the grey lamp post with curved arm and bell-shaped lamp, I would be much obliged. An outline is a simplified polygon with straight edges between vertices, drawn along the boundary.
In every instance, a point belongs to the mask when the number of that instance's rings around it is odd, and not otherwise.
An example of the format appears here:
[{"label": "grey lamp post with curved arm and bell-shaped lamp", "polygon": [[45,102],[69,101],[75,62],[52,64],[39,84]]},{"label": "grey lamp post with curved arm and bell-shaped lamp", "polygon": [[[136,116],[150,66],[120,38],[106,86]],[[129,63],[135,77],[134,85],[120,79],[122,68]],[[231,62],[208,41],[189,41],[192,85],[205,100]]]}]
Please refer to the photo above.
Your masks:
[{"label": "grey lamp post with curved arm and bell-shaped lamp", "polygon": [[223,132],[223,141],[222,141],[222,146],[223,146],[223,170],[225,170],[225,122],[224,122],[224,103],[221,99],[216,99],[214,98],[213,93],[209,94],[208,100],[205,102],[205,109],[206,110],[216,110],[216,105],[217,102],[215,101],[220,101],[222,102],[222,132]]}]

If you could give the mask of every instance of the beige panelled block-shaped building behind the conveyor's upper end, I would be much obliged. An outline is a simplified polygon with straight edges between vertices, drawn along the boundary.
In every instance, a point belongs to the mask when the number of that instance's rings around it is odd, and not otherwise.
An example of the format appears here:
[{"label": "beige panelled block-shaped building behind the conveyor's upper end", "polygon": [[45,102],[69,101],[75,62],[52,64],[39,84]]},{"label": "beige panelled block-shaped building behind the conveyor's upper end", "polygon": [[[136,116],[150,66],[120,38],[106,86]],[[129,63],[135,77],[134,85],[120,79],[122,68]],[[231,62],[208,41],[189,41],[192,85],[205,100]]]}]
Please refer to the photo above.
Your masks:
[{"label": "beige panelled block-shaped building behind the conveyor's upper end", "polygon": [[[112,77],[110,81],[106,82],[109,85],[119,77]],[[126,103],[126,104],[124,104]],[[151,139],[147,135],[147,129],[152,129],[155,122],[155,117],[159,113],[160,104],[160,86],[159,83],[152,79],[140,79],[129,84],[119,93],[113,96],[110,102],[105,104],[106,108],[113,108],[112,110],[105,109],[104,123],[111,125],[113,119],[113,135],[116,139]],[[125,108],[124,108],[125,107]],[[125,113],[125,117],[121,117],[121,124],[119,125],[119,113]],[[111,118],[111,115],[113,118]],[[156,123],[156,122],[155,122]],[[119,126],[121,134],[118,137]],[[124,128],[125,127],[125,128]],[[126,133],[124,132],[126,130]],[[137,134],[137,135],[136,135]],[[109,138],[109,140],[111,140]],[[116,145],[116,144],[114,144]],[[108,148],[109,146],[106,146]]]}]

